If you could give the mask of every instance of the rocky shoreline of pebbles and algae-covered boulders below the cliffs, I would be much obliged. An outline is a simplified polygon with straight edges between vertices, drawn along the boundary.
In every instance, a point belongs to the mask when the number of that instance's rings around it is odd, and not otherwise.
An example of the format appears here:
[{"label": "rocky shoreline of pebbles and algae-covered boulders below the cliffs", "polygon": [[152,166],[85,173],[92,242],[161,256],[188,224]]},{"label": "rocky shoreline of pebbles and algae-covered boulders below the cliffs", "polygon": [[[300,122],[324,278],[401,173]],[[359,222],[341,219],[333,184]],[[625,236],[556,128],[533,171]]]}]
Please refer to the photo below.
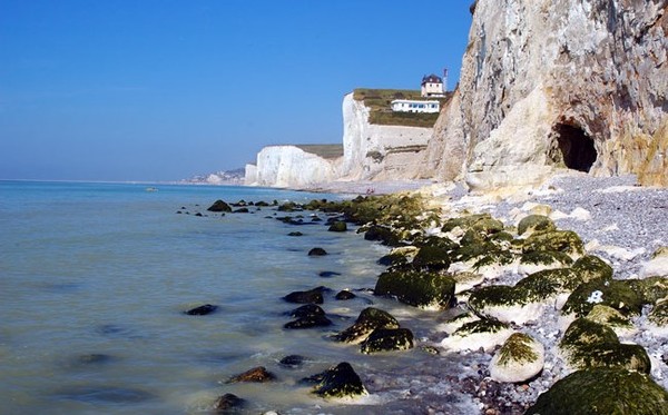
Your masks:
[{"label": "rocky shoreline of pebbles and algae-covered boulders below the cliffs", "polygon": [[[333,340],[360,344],[365,354],[420,348],[435,360],[360,376],[354,362],[340,363],[354,385],[330,386],[324,379],[336,376],[325,373],[314,393],[351,397],[406,386],[406,397],[387,403],[387,413],[666,413],[667,200],[667,189],[637,187],[630,176],[568,175],[512,194],[433,185],[410,196],[279,206],[291,220],[324,213],[330,230],[353,223],[365,239],[392,247],[374,295],[436,316],[429,335],[416,338],[385,312],[361,310]],[[318,289],[286,296],[305,304],[286,328],[327,324]],[[465,362],[459,373],[436,367],[452,354]],[[413,387],[401,385],[411,377]],[[620,389],[599,387],[599,379]],[[596,402],[609,406],[591,412]]]}]

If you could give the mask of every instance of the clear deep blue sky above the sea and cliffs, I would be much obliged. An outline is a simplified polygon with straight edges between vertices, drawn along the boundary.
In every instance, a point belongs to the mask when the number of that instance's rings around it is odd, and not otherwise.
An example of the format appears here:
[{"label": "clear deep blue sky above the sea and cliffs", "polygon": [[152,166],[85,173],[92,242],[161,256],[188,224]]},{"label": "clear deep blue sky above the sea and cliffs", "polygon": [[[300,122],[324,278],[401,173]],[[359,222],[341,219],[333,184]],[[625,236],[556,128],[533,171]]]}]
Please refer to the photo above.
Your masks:
[{"label": "clear deep blue sky above the sea and cliffs", "polygon": [[177,180],[459,79],[472,0],[0,0],[0,179]]}]

